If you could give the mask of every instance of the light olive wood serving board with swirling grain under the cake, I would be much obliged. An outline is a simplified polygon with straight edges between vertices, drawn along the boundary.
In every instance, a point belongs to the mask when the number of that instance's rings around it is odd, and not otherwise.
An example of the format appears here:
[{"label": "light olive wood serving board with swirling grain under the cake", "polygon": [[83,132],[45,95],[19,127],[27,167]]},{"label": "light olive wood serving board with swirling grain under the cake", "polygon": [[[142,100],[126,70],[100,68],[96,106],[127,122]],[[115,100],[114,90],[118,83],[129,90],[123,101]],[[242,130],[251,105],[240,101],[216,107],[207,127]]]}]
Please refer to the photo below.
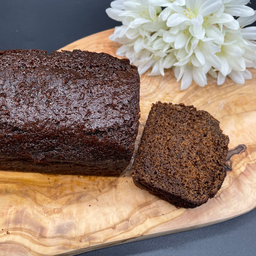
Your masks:
[{"label": "light olive wood serving board with swirling grain under the cake", "polygon": [[[94,34],[62,49],[115,55],[108,36]],[[140,129],[156,101],[194,105],[211,113],[230,138],[227,177],[217,195],[195,209],[137,188],[128,168],[120,177],[0,171],[0,255],[76,255],[110,245],[204,227],[256,206],[256,71],[244,85],[192,84],[180,91],[172,70],[141,76]],[[138,141],[137,141],[138,143]]]}]

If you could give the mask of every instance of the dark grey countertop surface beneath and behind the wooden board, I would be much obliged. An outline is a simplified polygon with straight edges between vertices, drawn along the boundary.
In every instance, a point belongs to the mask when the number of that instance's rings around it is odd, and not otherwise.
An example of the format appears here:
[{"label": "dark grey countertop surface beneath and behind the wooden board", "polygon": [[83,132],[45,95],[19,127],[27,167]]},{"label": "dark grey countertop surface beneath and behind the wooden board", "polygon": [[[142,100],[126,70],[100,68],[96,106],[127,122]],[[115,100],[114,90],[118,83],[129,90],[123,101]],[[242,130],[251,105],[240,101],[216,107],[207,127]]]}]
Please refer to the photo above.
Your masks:
[{"label": "dark grey countertop surface beneath and behind the wooden board", "polygon": [[[0,50],[52,52],[113,28],[102,0],[0,0]],[[256,1],[251,1],[256,9]],[[255,198],[256,200],[256,198]],[[1,253],[0,253],[1,254]],[[234,219],[186,232],[116,245],[80,255],[256,255],[256,209]]]}]

